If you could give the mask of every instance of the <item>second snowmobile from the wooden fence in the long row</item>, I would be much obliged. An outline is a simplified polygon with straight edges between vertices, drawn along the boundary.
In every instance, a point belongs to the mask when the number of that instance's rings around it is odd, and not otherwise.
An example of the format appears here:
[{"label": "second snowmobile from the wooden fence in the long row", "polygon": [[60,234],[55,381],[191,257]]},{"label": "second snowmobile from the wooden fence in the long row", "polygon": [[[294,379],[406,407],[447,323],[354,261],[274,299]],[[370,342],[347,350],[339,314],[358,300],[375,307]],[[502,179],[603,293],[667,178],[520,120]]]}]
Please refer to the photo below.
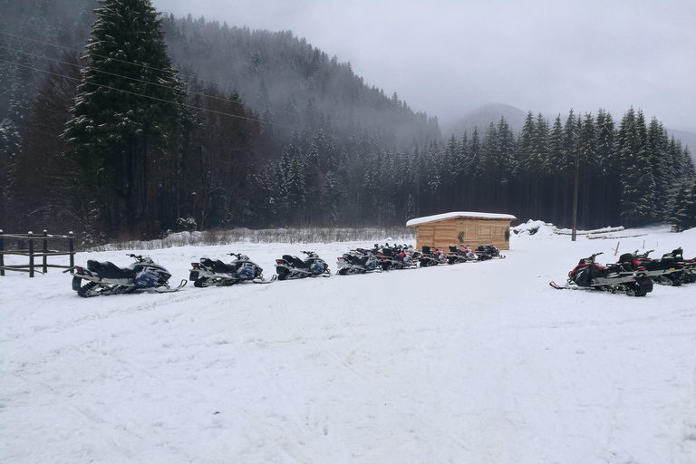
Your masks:
[{"label": "second snowmobile from the wooden fence in the long row", "polygon": [[219,259],[202,257],[200,262],[191,263],[189,280],[198,287],[229,286],[249,281],[255,284],[270,284],[275,280],[275,276],[271,280],[266,280],[263,275],[264,270],[250,261],[249,256],[238,253],[229,253],[229,255],[237,259],[226,264]]}]

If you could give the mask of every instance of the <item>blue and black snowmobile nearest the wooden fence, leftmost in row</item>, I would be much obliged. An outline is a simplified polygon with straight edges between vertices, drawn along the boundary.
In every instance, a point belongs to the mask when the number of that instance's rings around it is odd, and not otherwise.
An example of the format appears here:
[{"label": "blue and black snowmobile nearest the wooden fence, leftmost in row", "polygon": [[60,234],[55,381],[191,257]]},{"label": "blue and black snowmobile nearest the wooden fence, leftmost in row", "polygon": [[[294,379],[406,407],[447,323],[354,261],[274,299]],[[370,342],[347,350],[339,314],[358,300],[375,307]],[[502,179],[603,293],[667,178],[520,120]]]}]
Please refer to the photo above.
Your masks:
[{"label": "blue and black snowmobile nearest the wooden fence, leftmost in row", "polygon": [[[88,297],[97,295],[128,294],[142,288],[153,288],[158,293],[176,292],[187,284],[183,279],[179,286],[170,287],[171,274],[163,266],[155,264],[150,256],[128,255],[135,259],[131,266],[119,267],[111,261],[88,260],[87,267],[74,266],[73,290],[77,295]],[[82,285],[82,281],[87,283]]]}]

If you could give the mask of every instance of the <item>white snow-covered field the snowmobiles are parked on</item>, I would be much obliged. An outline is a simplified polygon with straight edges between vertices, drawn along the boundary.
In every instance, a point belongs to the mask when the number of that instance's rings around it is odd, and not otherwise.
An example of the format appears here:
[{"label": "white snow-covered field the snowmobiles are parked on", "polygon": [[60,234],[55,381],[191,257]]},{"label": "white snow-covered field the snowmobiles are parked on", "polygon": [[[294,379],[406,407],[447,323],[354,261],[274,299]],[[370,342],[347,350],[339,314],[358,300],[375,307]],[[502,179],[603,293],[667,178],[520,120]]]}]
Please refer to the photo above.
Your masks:
[{"label": "white snow-covered field the snowmobiles are parked on", "polygon": [[[594,252],[615,261],[619,241],[696,256],[696,229],[542,229],[504,260],[162,295],[80,298],[60,270],[8,273],[0,462],[693,464],[696,285],[548,285]],[[372,243],[147,253],[178,283],[201,256],[245,253],[270,277],[285,253],[334,272]]]}]

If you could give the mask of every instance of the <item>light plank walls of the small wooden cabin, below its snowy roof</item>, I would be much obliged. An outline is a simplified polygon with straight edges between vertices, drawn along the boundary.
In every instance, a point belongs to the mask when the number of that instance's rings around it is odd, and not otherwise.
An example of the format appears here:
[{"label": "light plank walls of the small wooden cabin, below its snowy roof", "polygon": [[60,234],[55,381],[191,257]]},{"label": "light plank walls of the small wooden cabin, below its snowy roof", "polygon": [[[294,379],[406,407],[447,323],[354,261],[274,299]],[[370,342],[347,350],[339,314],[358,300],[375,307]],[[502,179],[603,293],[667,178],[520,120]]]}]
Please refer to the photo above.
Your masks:
[{"label": "light plank walls of the small wooden cabin, below its snowy roof", "polygon": [[416,248],[428,247],[447,249],[458,245],[459,232],[464,232],[464,245],[494,245],[501,250],[510,249],[505,241],[505,231],[510,227],[509,220],[451,218],[416,226]]}]

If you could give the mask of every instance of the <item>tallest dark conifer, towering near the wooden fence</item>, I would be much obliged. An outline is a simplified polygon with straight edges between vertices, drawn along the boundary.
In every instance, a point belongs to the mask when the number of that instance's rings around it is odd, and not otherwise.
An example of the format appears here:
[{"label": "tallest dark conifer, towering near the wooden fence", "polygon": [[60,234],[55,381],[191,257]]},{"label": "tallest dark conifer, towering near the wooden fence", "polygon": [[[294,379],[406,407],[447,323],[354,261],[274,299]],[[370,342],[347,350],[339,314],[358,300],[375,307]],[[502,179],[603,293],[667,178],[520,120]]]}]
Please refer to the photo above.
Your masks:
[{"label": "tallest dark conifer, towering near the wooden fence", "polygon": [[174,155],[179,83],[150,0],[99,0],[65,137],[111,232],[157,232],[160,164]]}]

